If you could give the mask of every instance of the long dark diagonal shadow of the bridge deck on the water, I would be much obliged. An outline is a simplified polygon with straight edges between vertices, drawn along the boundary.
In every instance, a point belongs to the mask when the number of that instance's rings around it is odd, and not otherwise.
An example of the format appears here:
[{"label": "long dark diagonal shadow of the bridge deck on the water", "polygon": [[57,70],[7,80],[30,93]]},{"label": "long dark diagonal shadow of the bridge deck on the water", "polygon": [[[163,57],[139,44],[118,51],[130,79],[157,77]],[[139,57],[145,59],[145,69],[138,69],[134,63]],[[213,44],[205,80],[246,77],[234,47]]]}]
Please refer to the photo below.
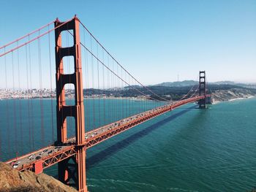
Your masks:
[{"label": "long dark diagonal shadow of the bridge deck on the water", "polygon": [[91,167],[96,166],[101,161],[104,161],[105,159],[109,158],[111,155],[117,153],[119,150],[122,150],[125,147],[132,144],[132,142],[137,141],[141,137],[145,137],[146,135],[150,134],[152,131],[156,130],[157,128],[165,125],[166,123],[169,123],[171,120],[174,120],[181,115],[184,115],[185,113],[189,112],[192,109],[196,109],[196,106],[194,105],[192,107],[182,110],[181,112],[177,112],[176,114],[170,115],[170,117],[165,118],[164,120],[160,120],[159,122],[154,123],[153,125],[148,126],[147,128],[143,128],[143,130],[138,131],[135,134],[132,134],[131,136],[121,140],[120,142],[117,142],[114,145],[111,145],[110,147],[100,151],[99,153],[96,153],[95,155],[92,155],[90,158],[86,159],[86,169],[90,169]]}]

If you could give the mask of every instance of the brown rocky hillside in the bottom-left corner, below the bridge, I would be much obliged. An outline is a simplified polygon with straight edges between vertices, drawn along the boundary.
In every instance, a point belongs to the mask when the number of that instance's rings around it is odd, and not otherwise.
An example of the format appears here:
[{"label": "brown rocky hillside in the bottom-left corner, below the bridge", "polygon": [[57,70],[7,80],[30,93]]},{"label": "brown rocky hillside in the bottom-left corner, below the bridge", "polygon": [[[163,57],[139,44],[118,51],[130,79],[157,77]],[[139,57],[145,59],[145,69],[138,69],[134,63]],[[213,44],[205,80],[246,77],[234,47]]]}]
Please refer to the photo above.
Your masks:
[{"label": "brown rocky hillside in the bottom-left corner, below the bridge", "polygon": [[28,192],[41,192],[41,191],[76,191],[59,180],[48,176],[47,174],[34,174],[34,172],[24,171],[19,172],[12,169],[11,166],[0,162],[0,191],[28,191]]}]

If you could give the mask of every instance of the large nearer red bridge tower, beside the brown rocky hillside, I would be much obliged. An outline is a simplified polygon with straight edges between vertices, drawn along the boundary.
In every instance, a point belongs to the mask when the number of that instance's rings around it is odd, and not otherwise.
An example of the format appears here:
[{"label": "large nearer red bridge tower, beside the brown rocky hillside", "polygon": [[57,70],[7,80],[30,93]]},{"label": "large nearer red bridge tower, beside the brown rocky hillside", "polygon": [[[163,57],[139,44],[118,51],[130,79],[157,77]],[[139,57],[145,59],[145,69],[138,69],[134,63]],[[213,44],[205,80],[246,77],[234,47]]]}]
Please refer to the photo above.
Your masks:
[{"label": "large nearer red bridge tower, beside the brown rocky hillside", "polygon": [[[67,23],[61,23],[58,19],[54,26],[56,42],[56,96],[57,96],[57,142],[67,143],[67,117],[75,118],[75,156],[67,158],[58,163],[59,180],[70,184],[72,179],[78,191],[87,191],[86,187],[86,146],[85,146],[85,122],[83,106],[83,80],[80,53],[79,20],[73,18]],[[61,47],[61,32],[69,30],[73,35],[74,45],[72,47]],[[64,74],[63,58],[72,56],[74,58],[75,72]],[[72,83],[75,85],[75,105],[69,106],[65,102],[64,85]],[[70,164],[69,161],[74,161]]]}]

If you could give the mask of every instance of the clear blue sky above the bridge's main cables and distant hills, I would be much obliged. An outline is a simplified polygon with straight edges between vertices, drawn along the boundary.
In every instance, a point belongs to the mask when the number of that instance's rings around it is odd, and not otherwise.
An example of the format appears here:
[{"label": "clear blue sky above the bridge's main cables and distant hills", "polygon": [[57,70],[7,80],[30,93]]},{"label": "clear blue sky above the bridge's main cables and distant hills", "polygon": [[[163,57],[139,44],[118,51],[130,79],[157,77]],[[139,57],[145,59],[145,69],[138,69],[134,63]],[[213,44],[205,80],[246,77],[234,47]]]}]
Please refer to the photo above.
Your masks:
[{"label": "clear blue sky above the bridge's main cables and distant hills", "polygon": [[75,14],[146,85],[256,82],[255,0],[1,1],[0,45]]}]

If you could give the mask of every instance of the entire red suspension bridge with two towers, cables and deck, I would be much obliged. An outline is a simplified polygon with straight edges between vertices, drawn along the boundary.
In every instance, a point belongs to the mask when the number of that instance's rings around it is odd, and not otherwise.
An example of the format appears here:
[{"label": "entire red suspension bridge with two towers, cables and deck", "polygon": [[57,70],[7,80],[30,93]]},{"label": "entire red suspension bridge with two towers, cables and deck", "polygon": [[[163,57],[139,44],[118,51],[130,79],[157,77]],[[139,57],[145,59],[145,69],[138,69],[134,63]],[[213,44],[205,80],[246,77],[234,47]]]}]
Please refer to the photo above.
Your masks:
[{"label": "entire red suspension bridge with two towers, cables and deck", "polygon": [[[56,19],[1,46],[0,50],[1,69],[4,68],[0,79],[6,94],[6,145],[8,153],[22,151],[5,162],[36,174],[58,164],[59,180],[75,185],[78,191],[87,191],[87,149],[184,104],[197,102],[200,108],[206,108],[210,96],[206,94],[206,72],[199,72],[198,85],[178,101],[160,96],[132,76],[76,16],[65,22]],[[115,103],[118,98],[113,91],[120,96],[121,107]],[[134,97],[140,98],[136,110],[131,105]],[[50,98],[49,109],[44,98]],[[107,103],[107,99],[112,100]],[[37,127],[40,139],[35,138]],[[47,147],[45,134],[52,137],[52,144]],[[29,140],[30,151],[20,149],[23,137]],[[40,145],[35,147],[35,142]]]}]

